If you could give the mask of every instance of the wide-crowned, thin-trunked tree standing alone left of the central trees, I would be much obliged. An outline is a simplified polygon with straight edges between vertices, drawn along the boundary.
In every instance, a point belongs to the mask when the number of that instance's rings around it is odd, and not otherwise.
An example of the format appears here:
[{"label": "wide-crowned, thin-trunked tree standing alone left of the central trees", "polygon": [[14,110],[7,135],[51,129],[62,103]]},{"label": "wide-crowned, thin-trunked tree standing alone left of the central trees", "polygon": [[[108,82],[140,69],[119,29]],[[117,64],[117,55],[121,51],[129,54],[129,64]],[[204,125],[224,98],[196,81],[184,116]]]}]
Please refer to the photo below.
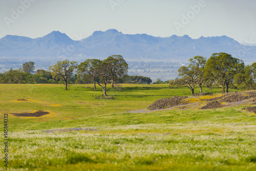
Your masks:
[{"label": "wide-crowned, thin-trunked tree standing alone left of the central trees", "polygon": [[57,64],[49,67],[53,78],[61,78],[65,84],[65,90],[68,90],[68,78],[77,67],[77,62],[58,61]]}]

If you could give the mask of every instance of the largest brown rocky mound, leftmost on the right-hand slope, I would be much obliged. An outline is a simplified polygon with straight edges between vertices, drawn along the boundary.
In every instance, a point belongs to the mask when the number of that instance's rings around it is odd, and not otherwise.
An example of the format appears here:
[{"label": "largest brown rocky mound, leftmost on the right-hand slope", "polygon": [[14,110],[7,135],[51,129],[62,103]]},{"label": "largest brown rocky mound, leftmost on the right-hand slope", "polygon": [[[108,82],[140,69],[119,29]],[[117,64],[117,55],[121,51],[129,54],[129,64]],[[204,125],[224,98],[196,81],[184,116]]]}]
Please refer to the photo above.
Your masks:
[{"label": "largest brown rocky mound, leftmost on the right-hand slope", "polygon": [[174,107],[181,105],[181,101],[186,99],[187,96],[174,96],[172,98],[165,98],[159,99],[155,101],[152,105],[148,106],[147,109],[149,110],[156,110],[156,109],[165,109],[168,107]]}]

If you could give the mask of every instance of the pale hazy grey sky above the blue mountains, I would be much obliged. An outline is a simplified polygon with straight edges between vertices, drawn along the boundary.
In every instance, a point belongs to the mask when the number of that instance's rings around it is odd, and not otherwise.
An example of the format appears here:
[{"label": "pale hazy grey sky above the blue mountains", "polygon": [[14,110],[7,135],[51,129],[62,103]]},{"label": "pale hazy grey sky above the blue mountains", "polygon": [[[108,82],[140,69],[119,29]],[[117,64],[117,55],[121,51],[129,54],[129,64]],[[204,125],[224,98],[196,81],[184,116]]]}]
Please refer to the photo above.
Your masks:
[{"label": "pale hazy grey sky above the blue mountains", "polygon": [[256,42],[255,0],[0,0],[0,38],[53,30],[73,40],[94,31],[167,37],[227,35]]}]

